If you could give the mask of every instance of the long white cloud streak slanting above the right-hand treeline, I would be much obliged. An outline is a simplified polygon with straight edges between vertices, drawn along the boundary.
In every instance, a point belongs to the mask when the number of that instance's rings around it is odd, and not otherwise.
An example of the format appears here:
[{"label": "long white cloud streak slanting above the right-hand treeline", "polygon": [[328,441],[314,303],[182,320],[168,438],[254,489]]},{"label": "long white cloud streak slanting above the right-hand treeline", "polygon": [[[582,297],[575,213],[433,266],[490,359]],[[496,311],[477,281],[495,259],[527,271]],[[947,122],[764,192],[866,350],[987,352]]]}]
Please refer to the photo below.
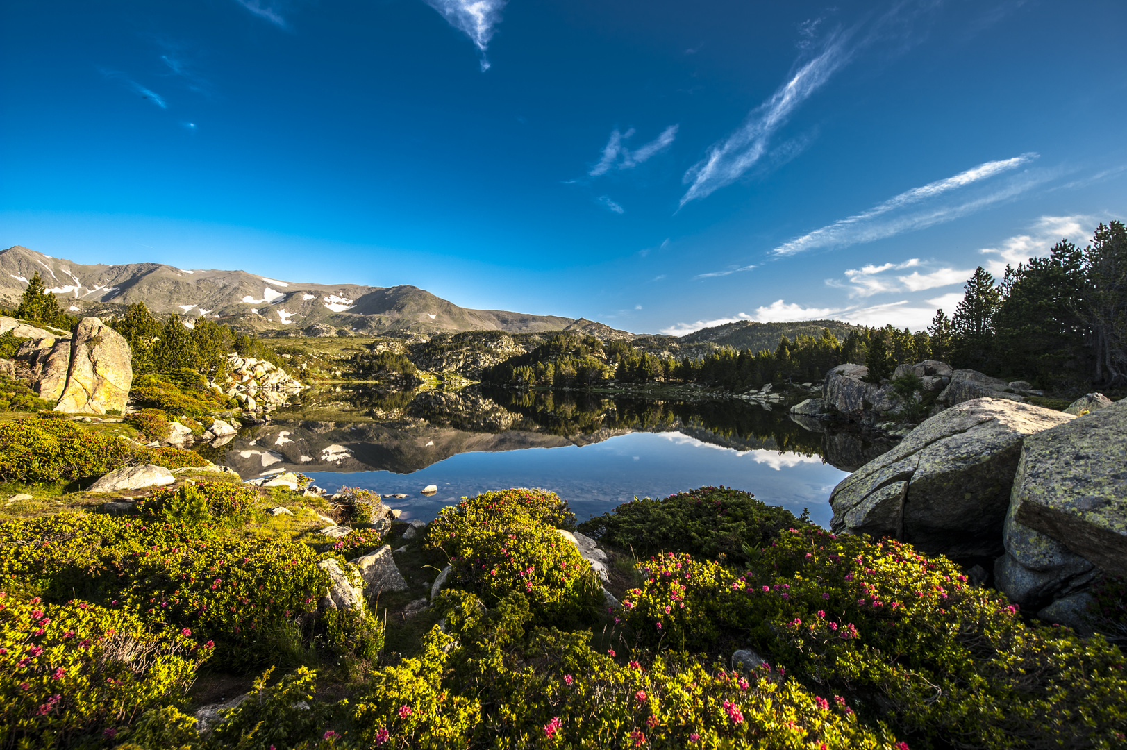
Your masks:
[{"label": "long white cloud streak slanting above the right-hand treeline", "polygon": [[859,242],[871,242],[905,231],[914,231],[958,219],[959,217],[967,215],[968,213],[1023,193],[1035,185],[1045,182],[1048,177],[1039,175],[1027,176],[1024,179],[1014,179],[987,195],[953,205],[916,211],[911,211],[911,209],[922,203],[935,201],[953,191],[966,188],[991,177],[1026,166],[1037,159],[1037,157],[1038,155],[1036,153],[1023,153],[1011,159],[986,161],[953,177],[938,179],[922,187],[913,187],[875,205],[868,211],[841,219],[832,224],[815,229],[807,235],[792,239],[789,242],[783,242],[771,250],[771,253],[777,256],[786,256],[818,248],[845,247]]}]

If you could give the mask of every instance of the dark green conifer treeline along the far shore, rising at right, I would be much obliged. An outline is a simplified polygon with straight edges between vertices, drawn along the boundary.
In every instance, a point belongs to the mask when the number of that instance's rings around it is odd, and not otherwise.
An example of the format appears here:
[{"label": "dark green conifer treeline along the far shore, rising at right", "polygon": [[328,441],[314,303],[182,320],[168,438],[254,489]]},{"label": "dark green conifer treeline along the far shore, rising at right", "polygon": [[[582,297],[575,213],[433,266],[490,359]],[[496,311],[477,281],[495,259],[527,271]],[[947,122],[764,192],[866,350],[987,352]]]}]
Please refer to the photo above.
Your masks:
[{"label": "dark green conifer treeline along the far shore, rising at right", "polygon": [[898,364],[933,359],[960,369],[1067,390],[1091,383],[1127,386],[1127,230],[1100,224],[1080,248],[1068,240],[1044,258],[1006,267],[996,282],[980,266],[955,314],[937,310],[915,333],[893,326],[857,328],[844,339],[779,339],[773,351],[724,347],[704,356],[660,358],[615,341],[558,334],[527,354],[482,374],[515,387],[585,388],[616,383],[699,383],[743,391],[766,383],[817,381],[846,362],[890,378]]}]

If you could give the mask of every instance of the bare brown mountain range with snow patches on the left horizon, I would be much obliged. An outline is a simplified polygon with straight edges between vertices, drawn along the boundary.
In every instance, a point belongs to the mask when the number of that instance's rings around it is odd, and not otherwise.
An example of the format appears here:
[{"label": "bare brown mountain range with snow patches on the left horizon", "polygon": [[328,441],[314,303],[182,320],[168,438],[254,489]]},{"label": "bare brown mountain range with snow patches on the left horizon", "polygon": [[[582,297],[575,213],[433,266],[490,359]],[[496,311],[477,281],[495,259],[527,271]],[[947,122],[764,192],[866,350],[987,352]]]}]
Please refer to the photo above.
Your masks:
[{"label": "bare brown mountain range with snow patches on the left horizon", "polygon": [[83,265],[16,245],[0,250],[0,300],[14,307],[38,273],[68,311],[115,316],[144,302],[154,314],[207,316],[274,335],[434,335],[463,330],[575,330],[631,337],[585,318],[473,310],[410,285],[312,284],[160,263]]}]

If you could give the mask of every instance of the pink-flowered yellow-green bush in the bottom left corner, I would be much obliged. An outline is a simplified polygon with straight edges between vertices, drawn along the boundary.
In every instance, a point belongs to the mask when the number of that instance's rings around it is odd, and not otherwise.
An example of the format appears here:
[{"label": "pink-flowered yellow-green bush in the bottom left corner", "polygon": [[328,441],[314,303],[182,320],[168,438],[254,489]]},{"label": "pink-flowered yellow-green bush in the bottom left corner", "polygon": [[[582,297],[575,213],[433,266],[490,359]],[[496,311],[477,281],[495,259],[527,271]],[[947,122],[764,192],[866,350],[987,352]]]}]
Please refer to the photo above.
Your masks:
[{"label": "pink-flowered yellow-green bush in the bottom left corner", "polygon": [[212,652],[188,628],[0,593],[0,745],[78,744],[180,698]]}]

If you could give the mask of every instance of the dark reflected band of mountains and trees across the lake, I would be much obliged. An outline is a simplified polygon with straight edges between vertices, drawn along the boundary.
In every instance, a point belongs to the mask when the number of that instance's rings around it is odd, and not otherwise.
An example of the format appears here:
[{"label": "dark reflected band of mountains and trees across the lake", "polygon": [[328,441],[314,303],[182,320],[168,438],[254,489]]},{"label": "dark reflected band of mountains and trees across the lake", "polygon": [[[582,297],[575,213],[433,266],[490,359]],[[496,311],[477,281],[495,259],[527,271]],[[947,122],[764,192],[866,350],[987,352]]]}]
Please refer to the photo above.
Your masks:
[{"label": "dark reflected band of mountains and trees across the lake", "polygon": [[[302,418],[329,414],[338,418]],[[740,451],[823,456],[852,470],[866,455],[886,449],[850,435],[813,432],[786,413],[740,400],[662,402],[504,389],[383,392],[362,386],[314,394],[312,403],[279,417],[240,432],[227,445],[206,451],[208,457],[243,476],[277,468],[408,474],[464,452],[585,445],[629,432],[677,431]]]}]

